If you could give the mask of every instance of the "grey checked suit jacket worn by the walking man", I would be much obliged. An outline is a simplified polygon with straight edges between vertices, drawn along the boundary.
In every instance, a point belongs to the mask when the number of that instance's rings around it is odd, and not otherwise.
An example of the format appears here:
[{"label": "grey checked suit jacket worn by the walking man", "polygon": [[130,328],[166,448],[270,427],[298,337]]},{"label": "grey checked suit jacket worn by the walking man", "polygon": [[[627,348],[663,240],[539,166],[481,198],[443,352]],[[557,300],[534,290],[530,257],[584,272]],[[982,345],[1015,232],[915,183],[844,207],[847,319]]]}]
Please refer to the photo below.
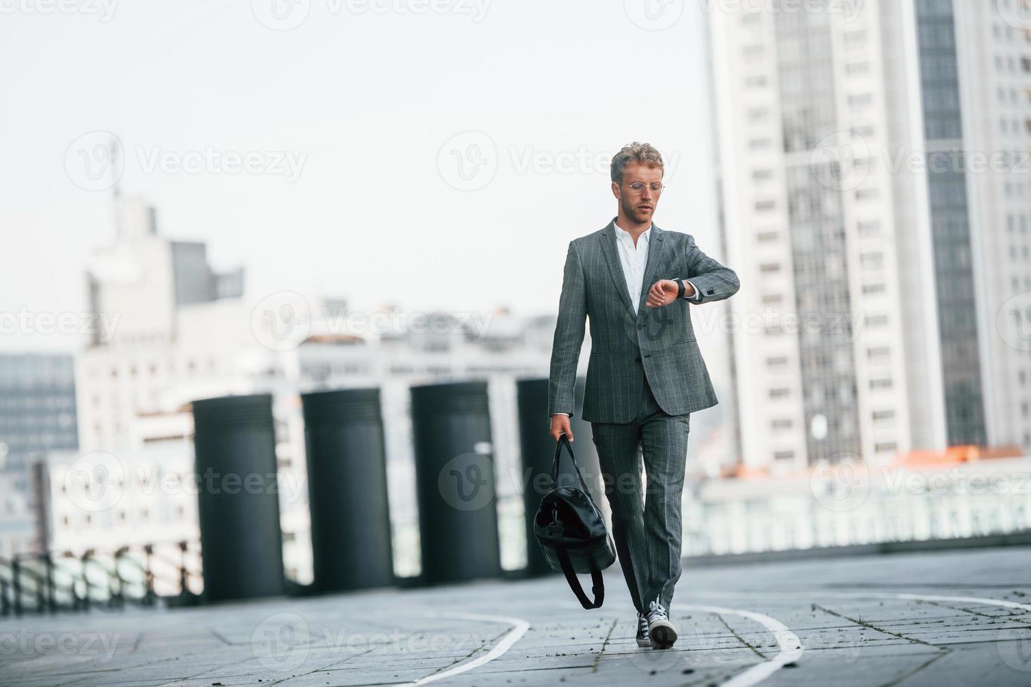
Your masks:
[{"label": "grey checked suit jacket worn by the walking man", "polygon": [[645,376],[659,406],[683,415],[717,404],[691,324],[687,299],[661,308],[644,305],[659,279],[690,278],[708,303],[737,293],[737,274],[712,260],[690,234],[652,225],[647,264],[637,314],[616,244],[616,220],[569,242],[559,300],[559,321],[552,345],[547,414],[573,414],[576,364],[591,322],[591,358],[584,394],[589,422],[630,422],[640,402]]}]

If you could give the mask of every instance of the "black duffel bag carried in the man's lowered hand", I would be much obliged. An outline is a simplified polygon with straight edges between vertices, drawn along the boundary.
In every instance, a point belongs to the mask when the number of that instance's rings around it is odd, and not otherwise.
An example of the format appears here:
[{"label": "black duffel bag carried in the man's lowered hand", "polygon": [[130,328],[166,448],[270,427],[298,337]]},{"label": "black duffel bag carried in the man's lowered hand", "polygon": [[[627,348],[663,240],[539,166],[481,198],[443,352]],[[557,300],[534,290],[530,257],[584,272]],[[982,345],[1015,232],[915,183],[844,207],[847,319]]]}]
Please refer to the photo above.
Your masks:
[{"label": "black duffel bag carried in the man's lowered hand", "polygon": [[[558,486],[559,458],[563,446],[569,451],[583,489]],[[591,491],[565,435],[559,437],[555,447],[552,483],[551,490],[540,500],[540,508],[533,519],[533,534],[540,543],[547,565],[553,572],[566,576],[580,605],[585,609],[599,609],[605,599],[605,580],[601,571],[616,562],[616,546],[605,528],[605,519],[591,500]],[[593,602],[584,593],[576,573],[591,574]]]}]

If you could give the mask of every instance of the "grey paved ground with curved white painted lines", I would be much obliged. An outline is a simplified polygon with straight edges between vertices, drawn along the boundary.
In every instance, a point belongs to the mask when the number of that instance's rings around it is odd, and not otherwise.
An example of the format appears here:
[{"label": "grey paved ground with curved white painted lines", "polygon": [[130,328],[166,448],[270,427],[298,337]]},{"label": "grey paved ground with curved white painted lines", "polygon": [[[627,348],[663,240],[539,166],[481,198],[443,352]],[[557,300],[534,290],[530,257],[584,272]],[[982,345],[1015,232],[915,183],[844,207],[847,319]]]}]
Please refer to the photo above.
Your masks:
[{"label": "grey paved ground with curved white painted lines", "polygon": [[1031,548],[687,569],[667,651],[605,581],[596,611],[554,576],[6,619],[0,684],[1031,684]]}]

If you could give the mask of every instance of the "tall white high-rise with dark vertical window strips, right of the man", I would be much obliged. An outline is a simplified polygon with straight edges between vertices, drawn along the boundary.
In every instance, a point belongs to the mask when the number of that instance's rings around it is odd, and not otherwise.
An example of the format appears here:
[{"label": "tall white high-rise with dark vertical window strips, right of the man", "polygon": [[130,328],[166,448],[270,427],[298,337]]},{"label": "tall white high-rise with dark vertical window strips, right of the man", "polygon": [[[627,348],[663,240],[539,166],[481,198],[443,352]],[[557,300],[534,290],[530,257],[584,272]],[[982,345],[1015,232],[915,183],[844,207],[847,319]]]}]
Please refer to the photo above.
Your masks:
[{"label": "tall white high-rise with dark vertical window strips, right of the man", "polygon": [[992,2],[818,4],[708,15],[743,461],[1026,450],[996,315],[1031,286],[1031,188],[967,162],[1027,154],[1028,33]]}]

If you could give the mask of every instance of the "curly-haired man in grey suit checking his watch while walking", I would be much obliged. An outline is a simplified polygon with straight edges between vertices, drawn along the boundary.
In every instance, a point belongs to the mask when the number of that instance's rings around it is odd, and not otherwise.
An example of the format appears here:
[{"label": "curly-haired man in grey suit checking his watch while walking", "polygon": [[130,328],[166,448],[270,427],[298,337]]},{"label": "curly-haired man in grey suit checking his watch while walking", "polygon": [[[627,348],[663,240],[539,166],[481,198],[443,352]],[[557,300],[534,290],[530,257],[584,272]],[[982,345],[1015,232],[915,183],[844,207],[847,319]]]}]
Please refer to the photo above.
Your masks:
[{"label": "curly-haired man in grey suit checking his watch while walking", "polygon": [[680,577],[690,414],[717,403],[688,307],[729,298],[739,284],[690,234],[653,224],[662,178],[658,150],[646,143],[624,147],[611,164],[619,214],[569,243],[547,412],[552,437],[564,433],[572,441],[573,385],[590,318],[584,419],[591,422],[616,549],[637,609],[637,644],[665,649],[676,641],[669,605]]}]

